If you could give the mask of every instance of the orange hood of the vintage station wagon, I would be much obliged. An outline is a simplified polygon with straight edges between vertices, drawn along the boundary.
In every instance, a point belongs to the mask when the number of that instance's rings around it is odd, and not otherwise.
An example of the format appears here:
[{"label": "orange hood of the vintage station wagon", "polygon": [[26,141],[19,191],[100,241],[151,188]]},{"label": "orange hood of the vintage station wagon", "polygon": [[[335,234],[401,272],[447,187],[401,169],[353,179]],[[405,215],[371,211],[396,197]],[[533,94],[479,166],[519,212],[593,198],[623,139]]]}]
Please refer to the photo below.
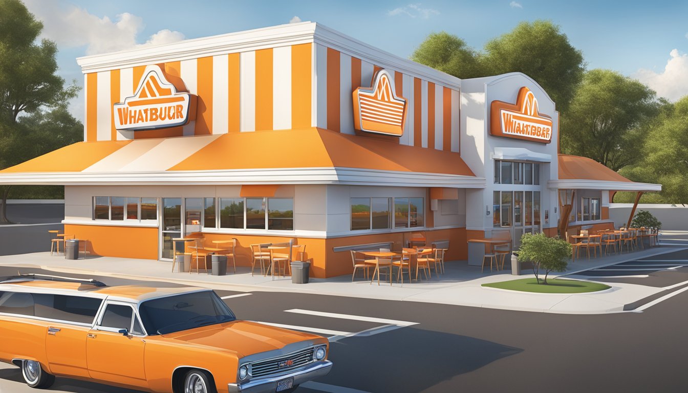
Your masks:
[{"label": "orange hood of the vintage station wagon", "polygon": [[327,342],[327,339],[314,334],[275,328],[250,321],[218,323],[164,334],[162,337],[198,346],[230,350],[237,352],[240,357],[278,350],[301,341],[307,341],[303,346]]}]

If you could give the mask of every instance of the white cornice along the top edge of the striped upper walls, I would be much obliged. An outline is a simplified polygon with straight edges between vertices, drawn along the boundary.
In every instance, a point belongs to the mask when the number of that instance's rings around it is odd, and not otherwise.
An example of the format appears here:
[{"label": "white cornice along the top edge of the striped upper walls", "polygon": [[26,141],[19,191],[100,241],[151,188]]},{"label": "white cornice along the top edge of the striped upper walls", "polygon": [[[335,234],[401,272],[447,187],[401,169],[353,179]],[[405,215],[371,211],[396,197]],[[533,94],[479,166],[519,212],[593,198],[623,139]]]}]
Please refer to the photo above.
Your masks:
[{"label": "white cornice along the top edge of the striped upper walls", "polygon": [[76,59],[76,63],[81,66],[83,73],[100,72],[301,43],[319,43],[383,68],[418,76],[453,89],[460,89],[461,87],[459,78],[385,52],[314,22],[288,23],[164,45],[140,47],[133,50],[83,56]]}]

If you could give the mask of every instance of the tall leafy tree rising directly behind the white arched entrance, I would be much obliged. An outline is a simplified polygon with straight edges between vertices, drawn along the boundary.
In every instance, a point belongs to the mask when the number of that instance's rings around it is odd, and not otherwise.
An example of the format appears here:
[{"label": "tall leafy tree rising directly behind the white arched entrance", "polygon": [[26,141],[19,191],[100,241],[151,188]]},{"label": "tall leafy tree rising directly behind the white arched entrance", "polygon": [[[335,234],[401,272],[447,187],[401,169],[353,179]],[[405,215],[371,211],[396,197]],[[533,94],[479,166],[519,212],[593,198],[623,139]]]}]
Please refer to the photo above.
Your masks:
[{"label": "tall leafy tree rising directly behind the white arched entrance", "polygon": [[583,78],[585,63],[559,26],[550,21],[521,22],[489,41],[481,63],[488,75],[523,72],[533,78],[565,112]]}]

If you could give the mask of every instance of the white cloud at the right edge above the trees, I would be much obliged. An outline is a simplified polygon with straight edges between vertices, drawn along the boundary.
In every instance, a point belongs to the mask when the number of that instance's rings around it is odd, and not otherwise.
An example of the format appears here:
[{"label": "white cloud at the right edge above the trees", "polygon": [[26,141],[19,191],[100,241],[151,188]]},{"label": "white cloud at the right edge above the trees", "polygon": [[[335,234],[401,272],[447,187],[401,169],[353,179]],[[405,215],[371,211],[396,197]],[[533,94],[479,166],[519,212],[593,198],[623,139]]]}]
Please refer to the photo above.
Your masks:
[{"label": "white cloud at the right edge above the trees", "polygon": [[674,49],[669,56],[663,72],[641,68],[634,77],[654,89],[658,96],[675,101],[688,94],[688,54],[679,54]]}]

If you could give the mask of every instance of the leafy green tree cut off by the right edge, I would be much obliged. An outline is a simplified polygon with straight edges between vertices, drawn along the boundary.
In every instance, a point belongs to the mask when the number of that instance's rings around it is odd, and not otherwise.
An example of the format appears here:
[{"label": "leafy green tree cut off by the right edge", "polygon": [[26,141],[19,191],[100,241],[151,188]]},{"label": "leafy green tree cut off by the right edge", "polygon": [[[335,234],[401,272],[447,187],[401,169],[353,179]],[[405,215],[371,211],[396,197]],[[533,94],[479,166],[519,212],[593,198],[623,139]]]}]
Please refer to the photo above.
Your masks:
[{"label": "leafy green tree cut off by the right edge", "polygon": [[[636,182],[662,184],[660,193],[645,193],[641,202],[688,204],[688,96],[673,105],[663,105],[640,158],[620,173]],[[631,198],[619,198],[622,196],[615,195],[614,202]]]}]

